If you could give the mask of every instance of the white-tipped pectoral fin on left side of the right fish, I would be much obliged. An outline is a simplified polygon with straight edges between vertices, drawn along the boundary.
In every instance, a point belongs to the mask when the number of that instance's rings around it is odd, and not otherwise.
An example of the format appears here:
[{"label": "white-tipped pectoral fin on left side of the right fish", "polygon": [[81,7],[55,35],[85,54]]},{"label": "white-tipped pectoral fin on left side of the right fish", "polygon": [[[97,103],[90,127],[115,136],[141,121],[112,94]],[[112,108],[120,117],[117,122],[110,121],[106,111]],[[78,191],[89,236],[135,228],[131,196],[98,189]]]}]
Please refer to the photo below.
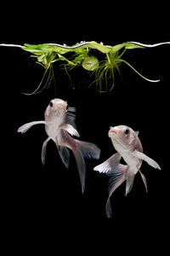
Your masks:
[{"label": "white-tipped pectoral fin on left side of the right fish", "polygon": [[103,173],[111,173],[114,172],[116,166],[119,165],[122,156],[119,153],[111,155],[108,160],[105,160],[99,166],[94,167],[94,171],[103,172]]}]

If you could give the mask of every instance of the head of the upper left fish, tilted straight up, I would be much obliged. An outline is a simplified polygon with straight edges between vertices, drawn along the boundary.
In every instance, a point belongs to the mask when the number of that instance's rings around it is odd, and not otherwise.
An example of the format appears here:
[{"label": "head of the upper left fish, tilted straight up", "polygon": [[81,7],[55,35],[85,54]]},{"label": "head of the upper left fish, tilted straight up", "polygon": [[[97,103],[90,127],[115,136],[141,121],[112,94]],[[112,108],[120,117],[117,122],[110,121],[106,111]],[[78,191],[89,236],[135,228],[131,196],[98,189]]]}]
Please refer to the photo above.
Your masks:
[{"label": "head of the upper left fish, tilted straight up", "polygon": [[51,100],[48,104],[48,107],[45,111],[45,118],[46,119],[53,119],[59,115],[65,115],[66,109],[67,109],[67,102],[55,98],[54,100]]}]

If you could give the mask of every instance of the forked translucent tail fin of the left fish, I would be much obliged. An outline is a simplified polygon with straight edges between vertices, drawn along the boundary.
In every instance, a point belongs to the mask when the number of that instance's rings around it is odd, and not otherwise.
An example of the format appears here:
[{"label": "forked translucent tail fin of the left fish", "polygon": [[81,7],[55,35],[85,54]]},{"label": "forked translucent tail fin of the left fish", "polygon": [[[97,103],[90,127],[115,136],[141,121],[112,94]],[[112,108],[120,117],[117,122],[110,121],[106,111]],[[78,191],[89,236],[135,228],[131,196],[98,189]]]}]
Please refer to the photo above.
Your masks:
[{"label": "forked translucent tail fin of the left fish", "polygon": [[84,159],[99,159],[100,149],[94,143],[86,143],[75,140],[77,147],[72,149],[77,160],[77,168],[82,185],[82,193],[85,190],[86,164]]}]

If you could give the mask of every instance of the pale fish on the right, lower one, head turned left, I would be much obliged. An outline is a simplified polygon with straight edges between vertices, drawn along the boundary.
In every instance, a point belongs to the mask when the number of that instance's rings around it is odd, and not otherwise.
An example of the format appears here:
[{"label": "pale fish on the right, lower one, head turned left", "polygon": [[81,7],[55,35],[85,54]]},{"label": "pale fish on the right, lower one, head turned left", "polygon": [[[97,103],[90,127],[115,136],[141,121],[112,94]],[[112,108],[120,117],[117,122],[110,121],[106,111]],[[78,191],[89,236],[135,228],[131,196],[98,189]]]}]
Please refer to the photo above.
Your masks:
[{"label": "pale fish on the right, lower one, head turned left", "polygon": [[[108,218],[111,218],[111,195],[124,181],[126,181],[127,195],[133,187],[133,179],[137,172],[140,173],[147,192],[147,183],[144,174],[140,172],[142,160],[150,166],[161,170],[155,160],[150,159],[143,153],[142,144],[139,140],[139,131],[133,131],[126,125],[111,127],[109,137],[117,153],[113,154],[108,160],[99,166],[94,167],[94,171],[105,172],[109,177],[109,197],[106,202],[105,210]],[[123,158],[127,165],[120,164]]]}]

